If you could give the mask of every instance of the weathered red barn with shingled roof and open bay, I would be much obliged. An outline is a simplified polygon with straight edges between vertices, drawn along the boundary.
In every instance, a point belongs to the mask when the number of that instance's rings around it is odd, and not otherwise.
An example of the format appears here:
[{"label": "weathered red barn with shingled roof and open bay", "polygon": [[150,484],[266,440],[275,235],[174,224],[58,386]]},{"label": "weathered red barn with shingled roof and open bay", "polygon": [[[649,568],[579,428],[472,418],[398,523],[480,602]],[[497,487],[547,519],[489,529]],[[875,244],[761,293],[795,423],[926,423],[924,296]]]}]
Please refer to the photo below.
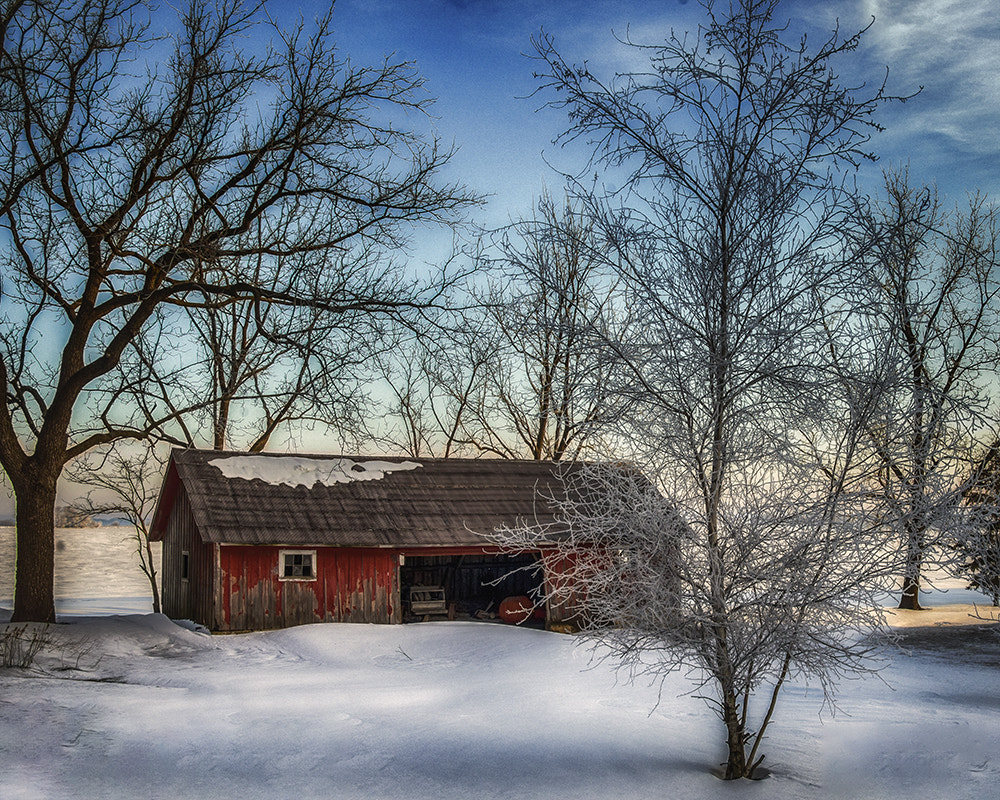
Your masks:
[{"label": "weathered red barn with shingled roof and open bay", "polygon": [[175,450],[151,527],[163,542],[163,610],[215,631],[496,613],[558,580],[540,553],[501,553],[482,536],[550,522],[556,469]]}]

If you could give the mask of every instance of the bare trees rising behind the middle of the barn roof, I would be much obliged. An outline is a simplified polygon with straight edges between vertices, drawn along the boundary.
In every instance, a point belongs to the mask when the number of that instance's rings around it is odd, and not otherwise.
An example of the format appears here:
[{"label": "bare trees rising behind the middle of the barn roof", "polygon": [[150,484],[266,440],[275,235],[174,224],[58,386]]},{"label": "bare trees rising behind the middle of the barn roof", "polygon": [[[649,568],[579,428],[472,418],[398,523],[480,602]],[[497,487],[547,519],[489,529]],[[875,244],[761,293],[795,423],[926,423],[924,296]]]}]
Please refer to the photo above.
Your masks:
[{"label": "bare trees rising behind the middle of the barn roof", "polygon": [[548,194],[484,237],[462,307],[390,377],[408,452],[558,461],[593,448],[610,407],[599,350],[617,324],[596,247],[583,213]]}]

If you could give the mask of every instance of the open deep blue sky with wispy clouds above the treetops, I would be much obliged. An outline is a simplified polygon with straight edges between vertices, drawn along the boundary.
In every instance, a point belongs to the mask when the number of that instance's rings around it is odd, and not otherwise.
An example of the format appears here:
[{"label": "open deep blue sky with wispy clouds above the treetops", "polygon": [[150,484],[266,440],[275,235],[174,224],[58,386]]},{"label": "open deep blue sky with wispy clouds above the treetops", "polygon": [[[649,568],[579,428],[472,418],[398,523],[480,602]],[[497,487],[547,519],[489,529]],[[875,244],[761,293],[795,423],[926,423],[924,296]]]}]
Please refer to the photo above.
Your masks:
[{"label": "open deep blue sky with wispy clouds above the treetops", "polygon": [[[309,18],[326,4],[286,8]],[[703,16],[695,0],[337,0],[334,23],[342,52],[358,62],[389,52],[417,62],[438,98],[438,133],[460,148],[453,177],[491,195],[479,218],[502,224],[528,213],[544,186],[561,187],[546,159],[566,171],[580,164],[580,153],[551,143],[565,117],[529,97],[530,38],[544,29],[567,58],[610,75],[631,66],[612,32],[655,42]],[[814,41],[838,20],[853,31],[875,17],[861,49],[839,64],[844,81],[876,85],[888,67],[891,92],[923,86],[880,115],[887,130],[872,146],[881,161],[863,176],[873,188],[883,167],[908,163],[914,180],[936,183],[950,201],[976,190],[1000,197],[1000,0],[788,0],[778,17]]]}]

